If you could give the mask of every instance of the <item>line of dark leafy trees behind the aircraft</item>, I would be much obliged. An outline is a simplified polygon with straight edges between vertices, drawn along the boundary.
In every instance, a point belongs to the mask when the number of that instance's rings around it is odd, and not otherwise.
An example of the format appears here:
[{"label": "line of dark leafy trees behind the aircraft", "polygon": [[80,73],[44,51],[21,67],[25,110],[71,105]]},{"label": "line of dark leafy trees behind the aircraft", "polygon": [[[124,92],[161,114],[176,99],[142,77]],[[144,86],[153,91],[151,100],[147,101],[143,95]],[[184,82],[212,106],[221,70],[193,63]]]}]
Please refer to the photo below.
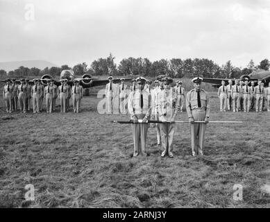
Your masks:
[{"label": "line of dark leafy trees behind the aircraft", "polygon": [[264,59],[259,65],[255,65],[253,60],[248,62],[248,65],[244,69],[234,67],[229,60],[225,65],[221,67],[212,60],[207,58],[187,58],[185,60],[180,58],[172,58],[171,60],[157,60],[151,62],[148,58],[124,58],[119,62],[119,65],[115,63],[115,57],[110,56],[108,58],[99,58],[90,63],[88,67],[85,62],[69,67],[68,65],[62,65],[61,67],[51,67],[45,69],[37,69],[35,67],[29,69],[28,67],[19,67],[14,71],[8,71],[1,69],[0,76],[9,78],[21,78],[24,76],[42,76],[49,74],[55,78],[60,76],[60,73],[64,69],[73,69],[76,76],[82,76],[83,74],[90,74],[92,76],[130,76],[139,75],[146,77],[155,77],[158,75],[167,74],[172,78],[192,78],[194,76],[203,76],[210,78],[239,78],[242,75],[251,74],[256,69],[269,70],[270,62],[268,59]]}]

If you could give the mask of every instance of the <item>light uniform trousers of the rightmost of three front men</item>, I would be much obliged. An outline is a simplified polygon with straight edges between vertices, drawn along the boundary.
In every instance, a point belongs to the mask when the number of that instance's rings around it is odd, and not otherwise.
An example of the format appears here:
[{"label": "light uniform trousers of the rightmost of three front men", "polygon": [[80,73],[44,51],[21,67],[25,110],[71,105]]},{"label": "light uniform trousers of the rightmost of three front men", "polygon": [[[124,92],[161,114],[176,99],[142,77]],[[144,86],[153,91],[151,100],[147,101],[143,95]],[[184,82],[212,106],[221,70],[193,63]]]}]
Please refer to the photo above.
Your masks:
[{"label": "light uniform trousers of the rightmost of three front men", "polygon": [[[205,111],[192,110],[192,117],[194,121],[204,121]],[[190,136],[192,140],[192,152],[196,154],[203,153],[203,140],[206,130],[205,123],[190,123]]]}]

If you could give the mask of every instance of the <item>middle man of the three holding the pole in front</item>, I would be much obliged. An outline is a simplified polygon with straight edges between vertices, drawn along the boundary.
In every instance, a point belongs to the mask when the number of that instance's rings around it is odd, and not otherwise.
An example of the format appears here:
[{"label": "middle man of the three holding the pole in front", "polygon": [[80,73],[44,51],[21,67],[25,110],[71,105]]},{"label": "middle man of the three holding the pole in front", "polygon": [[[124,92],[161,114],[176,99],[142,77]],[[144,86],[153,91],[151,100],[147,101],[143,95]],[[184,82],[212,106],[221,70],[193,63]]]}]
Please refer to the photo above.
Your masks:
[{"label": "middle man of the three holding the pole in front", "polygon": [[[180,110],[180,98],[176,98],[177,96],[174,94],[173,87],[171,87],[171,83],[173,83],[172,78],[162,78],[162,83],[164,89],[160,90],[157,98],[159,119],[163,122],[160,123],[161,157],[165,157],[165,155],[174,157],[173,140],[176,123],[172,122],[175,121],[177,112]],[[174,103],[174,101],[176,102]]]}]

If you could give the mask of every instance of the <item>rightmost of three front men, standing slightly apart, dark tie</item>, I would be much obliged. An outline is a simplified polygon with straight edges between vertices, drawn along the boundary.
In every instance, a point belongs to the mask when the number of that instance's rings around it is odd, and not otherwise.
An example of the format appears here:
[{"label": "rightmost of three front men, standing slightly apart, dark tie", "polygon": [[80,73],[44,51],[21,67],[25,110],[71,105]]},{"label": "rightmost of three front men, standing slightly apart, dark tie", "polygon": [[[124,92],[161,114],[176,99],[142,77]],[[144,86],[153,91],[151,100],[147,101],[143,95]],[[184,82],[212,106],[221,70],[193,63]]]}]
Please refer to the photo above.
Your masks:
[{"label": "rightmost of three front men, standing slightly apart, dark tie", "polygon": [[[210,101],[208,94],[201,89],[203,78],[192,79],[194,89],[187,93],[186,108],[190,122],[190,135],[192,140],[192,156],[203,155],[203,138],[206,124],[209,121]],[[205,123],[194,123],[194,121],[205,121]]]}]

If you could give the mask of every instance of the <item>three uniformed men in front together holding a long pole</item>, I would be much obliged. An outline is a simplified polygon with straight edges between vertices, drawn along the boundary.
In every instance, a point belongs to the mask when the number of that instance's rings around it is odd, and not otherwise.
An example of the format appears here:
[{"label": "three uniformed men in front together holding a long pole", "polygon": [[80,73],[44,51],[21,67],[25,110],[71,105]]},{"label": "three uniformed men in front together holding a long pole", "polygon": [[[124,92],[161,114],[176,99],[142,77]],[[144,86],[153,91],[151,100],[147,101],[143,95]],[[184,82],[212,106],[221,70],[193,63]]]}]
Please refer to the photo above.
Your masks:
[{"label": "three uniformed men in front together holding a long pole", "polygon": [[[194,89],[187,92],[186,109],[190,123],[190,135],[192,142],[192,156],[203,155],[203,137],[210,114],[210,101],[208,94],[201,89],[202,78],[194,78]],[[183,94],[175,93],[182,89],[180,84],[172,87],[173,79],[167,76],[158,76],[155,81],[156,87],[149,92],[145,87],[146,79],[136,79],[137,89],[128,95],[128,112],[133,121],[133,156],[148,155],[146,153],[146,135],[149,128],[147,121],[152,119],[161,123],[156,124],[158,144],[162,145],[161,157],[174,157],[173,139],[176,130],[176,116],[181,110]],[[180,83],[180,82],[178,82]],[[180,88],[180,89],[179,89]],[[177,90],[176,90],[177,89]],[[184,90],[184,89],[183,89]],[[181,90],[180,90],[181,91]],[[183,91],[181,91],[183,92]],[[204,123],[195,123],[203,121]]]}]

